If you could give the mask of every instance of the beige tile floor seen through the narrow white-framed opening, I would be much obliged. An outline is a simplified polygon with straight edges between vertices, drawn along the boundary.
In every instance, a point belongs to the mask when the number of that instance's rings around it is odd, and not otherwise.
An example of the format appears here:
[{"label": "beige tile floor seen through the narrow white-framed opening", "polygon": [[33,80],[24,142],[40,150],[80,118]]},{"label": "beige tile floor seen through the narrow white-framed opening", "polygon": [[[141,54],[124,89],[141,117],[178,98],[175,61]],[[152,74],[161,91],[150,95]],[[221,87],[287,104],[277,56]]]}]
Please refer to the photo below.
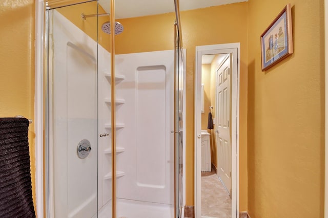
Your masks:
[{"label": "beige tile floor seen through the narrow white-framed opening", "polygon": [[214,171],[201,173],[201,217],[231,218],[231,199]]}]

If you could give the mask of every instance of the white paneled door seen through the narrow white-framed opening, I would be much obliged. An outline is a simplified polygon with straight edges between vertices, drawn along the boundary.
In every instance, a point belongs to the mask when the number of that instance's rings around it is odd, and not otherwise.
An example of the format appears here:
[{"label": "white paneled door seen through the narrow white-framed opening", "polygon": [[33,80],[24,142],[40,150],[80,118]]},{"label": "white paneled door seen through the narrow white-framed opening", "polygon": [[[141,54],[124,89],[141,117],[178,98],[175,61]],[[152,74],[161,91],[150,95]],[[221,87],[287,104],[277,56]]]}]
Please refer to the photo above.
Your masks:
[{"label": "white paneled door seen through the narrow white-framed opening", "polygon": [[224,58],[216,72],[216,143],[218,177],[231,195],[231,55]]}]

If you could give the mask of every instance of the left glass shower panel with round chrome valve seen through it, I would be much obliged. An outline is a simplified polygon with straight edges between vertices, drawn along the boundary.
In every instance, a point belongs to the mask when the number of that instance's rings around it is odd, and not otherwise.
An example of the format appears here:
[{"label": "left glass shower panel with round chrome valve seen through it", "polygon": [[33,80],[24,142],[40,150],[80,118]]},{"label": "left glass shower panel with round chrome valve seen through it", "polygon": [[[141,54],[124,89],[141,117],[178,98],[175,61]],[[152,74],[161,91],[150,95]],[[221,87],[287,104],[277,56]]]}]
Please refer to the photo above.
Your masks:
[{"label": "left glass shower panel with round chrome valve seen through it", "polygon": [[47,10],[47,217],[97,217],[97,1]]}]

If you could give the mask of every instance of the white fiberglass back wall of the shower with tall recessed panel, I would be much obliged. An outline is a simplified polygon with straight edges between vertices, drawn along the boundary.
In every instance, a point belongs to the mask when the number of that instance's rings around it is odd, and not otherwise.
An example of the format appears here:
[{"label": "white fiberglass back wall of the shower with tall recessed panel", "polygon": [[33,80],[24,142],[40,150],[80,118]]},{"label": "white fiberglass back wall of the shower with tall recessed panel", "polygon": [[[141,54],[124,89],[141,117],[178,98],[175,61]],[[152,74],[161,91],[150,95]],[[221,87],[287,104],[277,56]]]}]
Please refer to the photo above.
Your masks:
[{"label": "white fiberglass back wall of the shower with tall recessed panel", "polygon": [[[117,169],[126,172],[117,182],[118,216],[174,217],[174,50],[116,55],[116,72],[125,80],[116,85]],[[133,216],[126,205],[145,205]],[[154,212],[150,212],[154,211]],[[129,214],[130,213],[130,214]]]}]

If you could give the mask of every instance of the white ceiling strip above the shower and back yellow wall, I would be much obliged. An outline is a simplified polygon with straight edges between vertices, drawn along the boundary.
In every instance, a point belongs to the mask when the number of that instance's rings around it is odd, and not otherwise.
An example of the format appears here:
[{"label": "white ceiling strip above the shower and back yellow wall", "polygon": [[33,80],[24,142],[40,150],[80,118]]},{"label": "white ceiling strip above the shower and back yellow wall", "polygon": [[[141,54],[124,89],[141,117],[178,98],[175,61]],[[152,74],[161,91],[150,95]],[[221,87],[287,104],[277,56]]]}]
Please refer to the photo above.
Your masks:
[{"label": "white ceiling strip above the shower and back yellow wall", "polygon": [[[208,8],[248,0],[179,0],[180,11]],[[99,0],[99,4],[110,12],[110,1]],[[115,18],[148,16],[174,12],[174,0],[119,0],[115,1]]]}]

